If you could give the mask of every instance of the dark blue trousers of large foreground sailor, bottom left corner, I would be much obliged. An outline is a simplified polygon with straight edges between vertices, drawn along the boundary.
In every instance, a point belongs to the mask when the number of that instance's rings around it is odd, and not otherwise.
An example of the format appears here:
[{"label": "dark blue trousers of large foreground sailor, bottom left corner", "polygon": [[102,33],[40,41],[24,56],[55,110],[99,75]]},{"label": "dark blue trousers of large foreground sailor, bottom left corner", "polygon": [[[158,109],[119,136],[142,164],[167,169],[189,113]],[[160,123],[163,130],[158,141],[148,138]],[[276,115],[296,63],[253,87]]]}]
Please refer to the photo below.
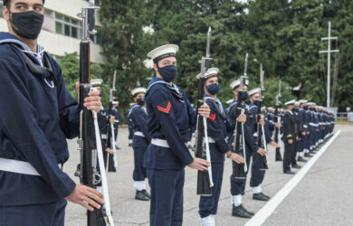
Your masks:
[{"label": "dark blue trousers of large foreground sailor, bottom left corner", "polygon": [[0,206],[0,226],[63,226],[66,203]]}]

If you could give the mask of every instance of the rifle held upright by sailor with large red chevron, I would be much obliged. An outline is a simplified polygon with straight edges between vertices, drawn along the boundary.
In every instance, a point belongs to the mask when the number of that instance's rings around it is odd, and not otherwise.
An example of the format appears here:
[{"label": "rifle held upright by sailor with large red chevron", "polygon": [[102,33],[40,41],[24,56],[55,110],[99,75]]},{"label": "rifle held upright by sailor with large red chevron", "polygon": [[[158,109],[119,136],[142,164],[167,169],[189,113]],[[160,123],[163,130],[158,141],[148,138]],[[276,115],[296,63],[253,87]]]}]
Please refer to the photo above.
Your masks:
[{"label": "rifle held upright by sailor with large red chevron", "polygon": [[[200,108],[204,104],[204,95],[205,95],[205,72],[208,70],[210,65],[210,42],[211,42],[211,27],[208,28],[207,33],[207,45],[205,57],[201,59],[201,76],[198,82],[198,95],[197,95],[197,108]],[[206,118],[197,114],[196,122],[196,157],[204,158],[207,161],[211,161],[210,148],[208,144],[208,135],[207,135],[207,121]],[[205,148],[204,148],[205,146]],[[201,195],[212,195],[211,187],[214,186],[212,179],[212,169],[211,166],[208,166],[207,171],[198,171],[197,172],[197,194]]]}]

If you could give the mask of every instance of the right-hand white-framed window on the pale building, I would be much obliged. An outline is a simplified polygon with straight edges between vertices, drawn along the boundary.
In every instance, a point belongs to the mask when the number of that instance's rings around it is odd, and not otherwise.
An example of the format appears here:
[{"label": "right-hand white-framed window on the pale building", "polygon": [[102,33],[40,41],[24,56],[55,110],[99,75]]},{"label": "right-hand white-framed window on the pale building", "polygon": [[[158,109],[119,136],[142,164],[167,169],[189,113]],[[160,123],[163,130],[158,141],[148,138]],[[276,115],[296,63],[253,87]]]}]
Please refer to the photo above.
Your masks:
[{"label": "right-hand white-framed window on the pale building", "polygon": [[55,13],[55,32],[80,39],[81,22],[65,15]]}]

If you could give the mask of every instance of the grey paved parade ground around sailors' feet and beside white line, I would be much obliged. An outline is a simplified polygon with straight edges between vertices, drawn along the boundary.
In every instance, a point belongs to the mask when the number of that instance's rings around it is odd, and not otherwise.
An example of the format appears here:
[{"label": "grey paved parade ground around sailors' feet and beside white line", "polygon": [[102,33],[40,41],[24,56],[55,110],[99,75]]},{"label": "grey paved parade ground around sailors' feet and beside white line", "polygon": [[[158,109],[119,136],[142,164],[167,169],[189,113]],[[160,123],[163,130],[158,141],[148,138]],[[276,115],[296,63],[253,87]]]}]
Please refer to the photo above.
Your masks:
[{"label": "grey paved parade ground around sailors' feet and beside white line", "polygon": [[[341,133],[308,174],[293,191],[281,202],[275,212],[263,225],[353,225],[353,127],[337,126]],[[119,128],[118,160],[119,172],[108,174],[110,203],[115,225],[148,225],[149,202],[134,200],[135,189],[132,184],[133,153],[128,146],[127,128]],[[76,141],[69,141],[71,157],[65,171],[73,176],[79,161]],[[281,174],[281,163],[274,161],[274,149],[269,148],[270,170],[267,171],[262,191],[274,196],[291,175]],[[224,184],[216,215],[216,225],[243,225],[247,220],[232,217],[230,201],[230,182],[232,167],[227,159],[224,167]],[[196,196],[196,171],[186,168],[184,187],[184,225],[199,225],[198,200]],[[247,184],[243,197],[244,206],[259,211],[266,202],[253,201]],[[86,215],[81,206],[69,203],[66,209],[66,225],[85,225]]]}]

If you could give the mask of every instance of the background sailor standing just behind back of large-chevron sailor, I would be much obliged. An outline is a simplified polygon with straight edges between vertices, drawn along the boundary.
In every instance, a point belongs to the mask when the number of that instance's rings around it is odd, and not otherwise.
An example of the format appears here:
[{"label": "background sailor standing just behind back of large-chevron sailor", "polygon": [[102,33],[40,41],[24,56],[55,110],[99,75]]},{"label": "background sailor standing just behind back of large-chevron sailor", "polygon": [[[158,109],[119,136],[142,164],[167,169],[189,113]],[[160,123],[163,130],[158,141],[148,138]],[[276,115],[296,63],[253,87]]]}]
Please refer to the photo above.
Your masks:
[{"label": "background sailor standing just behind back of large-chevron sailor", "polygon": [[145,179],[147,178],[146,169],[143,166],[143,158],[151,142],[147,127],[147,110],[145,106],[146,88],[138,87],[132,89],[131,94],[135,105],[129,112],[129,118],[132,121],[134,137],[132,139],[132,148],[134,149],[134,187],[136,188],[135,199],[140,201],[149,201],[150,195],[146,190]]}]

